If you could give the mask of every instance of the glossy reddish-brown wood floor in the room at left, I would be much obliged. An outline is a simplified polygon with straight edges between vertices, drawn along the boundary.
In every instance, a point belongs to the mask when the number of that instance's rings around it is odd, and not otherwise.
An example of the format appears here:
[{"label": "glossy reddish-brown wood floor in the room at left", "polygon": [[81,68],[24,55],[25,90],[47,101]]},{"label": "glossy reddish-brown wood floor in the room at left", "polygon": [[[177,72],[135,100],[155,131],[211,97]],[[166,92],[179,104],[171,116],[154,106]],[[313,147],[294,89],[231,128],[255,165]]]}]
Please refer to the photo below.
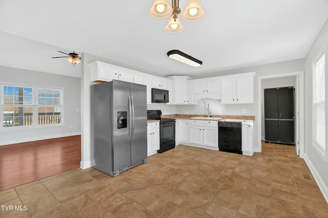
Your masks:
[{"label": "glossy reddish-brown wood floor in the room at left", "polygon": [[81,136],[0,146],[0,191],[80,166]]}]

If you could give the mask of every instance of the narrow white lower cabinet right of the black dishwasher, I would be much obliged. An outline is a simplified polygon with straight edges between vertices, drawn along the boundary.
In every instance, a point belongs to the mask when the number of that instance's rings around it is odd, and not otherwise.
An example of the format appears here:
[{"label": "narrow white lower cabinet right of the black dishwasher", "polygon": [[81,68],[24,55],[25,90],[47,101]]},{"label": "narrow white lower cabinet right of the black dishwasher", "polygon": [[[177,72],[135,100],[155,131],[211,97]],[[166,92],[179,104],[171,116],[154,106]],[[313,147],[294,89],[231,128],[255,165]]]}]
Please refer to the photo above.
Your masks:
[{"label": "narrow white lower cabinet right of the black dishwasher", "polygon": [[241,123],[241,151],[243,155],[254,154],[254,130],[253,122]]}]

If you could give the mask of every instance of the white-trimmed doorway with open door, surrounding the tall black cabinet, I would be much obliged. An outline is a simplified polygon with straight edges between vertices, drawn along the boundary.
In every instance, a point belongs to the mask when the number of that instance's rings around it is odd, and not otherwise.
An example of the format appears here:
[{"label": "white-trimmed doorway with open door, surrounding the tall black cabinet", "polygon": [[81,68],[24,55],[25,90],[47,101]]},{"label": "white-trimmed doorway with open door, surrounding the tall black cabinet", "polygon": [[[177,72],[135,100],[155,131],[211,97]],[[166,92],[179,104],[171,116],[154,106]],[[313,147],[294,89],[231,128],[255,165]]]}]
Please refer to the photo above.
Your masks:
[{"label": "white-trimmed doorway with open door, surrounding the tall black cabinet", "polygon": [[[290,72],[258,77],[258,152],[262,151],[261,141],[264,136],[264,94],[263,87],[268,81],[295,81],[295,150],[301,158],[304,157],[304,72]],[[282,85],[282,84],[281,84]],[[279,86],[281,86],[279,85]],[[289,86],[289,85],[286,85]]]}]

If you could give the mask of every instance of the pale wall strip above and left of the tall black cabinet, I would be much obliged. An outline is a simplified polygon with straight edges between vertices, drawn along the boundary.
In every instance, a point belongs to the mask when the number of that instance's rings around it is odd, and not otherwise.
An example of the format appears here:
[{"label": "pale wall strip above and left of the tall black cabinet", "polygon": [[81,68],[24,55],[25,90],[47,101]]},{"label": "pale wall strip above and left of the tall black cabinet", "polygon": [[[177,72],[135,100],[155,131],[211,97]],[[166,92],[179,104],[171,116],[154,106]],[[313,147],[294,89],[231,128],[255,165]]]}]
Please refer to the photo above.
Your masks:
[{"label": "pale wall strip above and left of the tall black cabinet", "polygon": [[264,140],[265,127],[264,127],[264,89],[266,88],[278,88],[278,87],[288,87],[294,86],[296,84],[296,76],[293,77],[283,77],[283,78],[272,78],[262,80],[262,125],[261,125],[261,136]]}]

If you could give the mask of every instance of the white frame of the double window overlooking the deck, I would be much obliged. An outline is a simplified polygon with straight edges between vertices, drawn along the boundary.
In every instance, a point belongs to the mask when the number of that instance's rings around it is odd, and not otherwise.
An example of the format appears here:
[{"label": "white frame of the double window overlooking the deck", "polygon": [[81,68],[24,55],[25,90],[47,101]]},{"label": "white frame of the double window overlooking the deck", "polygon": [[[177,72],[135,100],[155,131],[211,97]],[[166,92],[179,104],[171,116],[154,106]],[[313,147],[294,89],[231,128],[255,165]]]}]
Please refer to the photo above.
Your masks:
[{"label": "white frame of the double window overlooking the deck", "polygon": [[[32,88],[32,104],[14,104],[13,107],[32,107],[33,108],[33,120],[38,120],[38,108],[39,107],[47,107],[47,106],[55,106],[55,105],[40,105],[38,104],[38,89],[55,89],[60,91],[60,123],[59,124],[38,124],[38,122],[27,125],[27,126],[12,126],[12,127],[4,127],[0,126],[1,131],[13,131],[13,130],[25,130],[25,129],[36,129],[36,128],[51,128],[51,127],[63,127],[65,126],[65,116],[64,116],[64,102],[65,102],[65,88],[64,87],[53,87],[53,86],[35,86],[29,84],[20,84],[20,83],[0,83],[0,120],[4,119],[3,107],[4,105],[4,86],[18,86],[18,87],[29,87]],[[11,106],[11,105],[8,105]]]}]

